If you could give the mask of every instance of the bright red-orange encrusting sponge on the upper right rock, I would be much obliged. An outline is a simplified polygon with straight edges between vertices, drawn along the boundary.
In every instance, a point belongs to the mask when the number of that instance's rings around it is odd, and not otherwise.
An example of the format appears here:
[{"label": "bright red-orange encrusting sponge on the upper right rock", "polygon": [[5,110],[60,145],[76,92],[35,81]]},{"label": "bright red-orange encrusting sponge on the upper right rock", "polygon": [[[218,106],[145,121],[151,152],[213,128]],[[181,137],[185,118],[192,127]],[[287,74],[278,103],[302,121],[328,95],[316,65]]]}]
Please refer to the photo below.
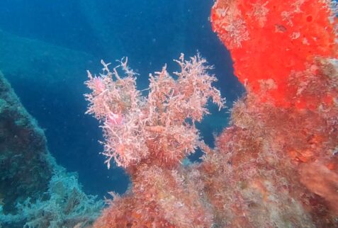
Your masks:
[{"label": "bright red-orange encrusting sponge on the upper right rock", "polygon": [[[290,95],[296,88],[288,86],[291,72],[303,71],[315,57],[338,56],[337,18],[328,1],[218,0],[210,19],[231,52],[238,79],[256,93],[261,80],[273,79],[269,95],[278,106],[295,103]],[[307,107],[303,102],[297,106]]]}]

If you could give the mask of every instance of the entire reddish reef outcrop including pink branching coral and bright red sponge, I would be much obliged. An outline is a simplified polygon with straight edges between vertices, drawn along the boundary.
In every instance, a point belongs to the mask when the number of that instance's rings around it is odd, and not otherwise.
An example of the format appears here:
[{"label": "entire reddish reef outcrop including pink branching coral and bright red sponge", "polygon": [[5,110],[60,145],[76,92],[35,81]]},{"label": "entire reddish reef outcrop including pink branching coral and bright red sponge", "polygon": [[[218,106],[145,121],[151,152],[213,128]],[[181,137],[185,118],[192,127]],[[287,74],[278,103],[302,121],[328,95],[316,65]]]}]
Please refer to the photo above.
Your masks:
[{"label": "entire reddish reef outcrop including pink branching coral and bright red sponge", "polygon": [[[133,182],[94,227],[337,227],[336,13],[328,0],[215,2],[213,30],[247,93],[213,149],[195,122],[224,99],[199,55],[150,74],[147,96],[127,59],[89,73],[106,164]],[[203,161],[183,165],[197,147]]]}]

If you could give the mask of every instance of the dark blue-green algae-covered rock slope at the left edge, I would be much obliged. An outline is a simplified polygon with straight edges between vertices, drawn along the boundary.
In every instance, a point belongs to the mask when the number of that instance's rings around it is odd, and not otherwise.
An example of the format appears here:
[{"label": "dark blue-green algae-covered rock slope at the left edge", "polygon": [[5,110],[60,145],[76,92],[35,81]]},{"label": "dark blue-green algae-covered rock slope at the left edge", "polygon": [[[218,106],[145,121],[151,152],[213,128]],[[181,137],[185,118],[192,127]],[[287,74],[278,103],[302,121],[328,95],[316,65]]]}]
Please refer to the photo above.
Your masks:
[{"label": "dark blue-green algae-covered rock slope at the left edge", "polygon": [[0,72],[0,199],[4,212],[47,190],[52,164],[47,140]]}]

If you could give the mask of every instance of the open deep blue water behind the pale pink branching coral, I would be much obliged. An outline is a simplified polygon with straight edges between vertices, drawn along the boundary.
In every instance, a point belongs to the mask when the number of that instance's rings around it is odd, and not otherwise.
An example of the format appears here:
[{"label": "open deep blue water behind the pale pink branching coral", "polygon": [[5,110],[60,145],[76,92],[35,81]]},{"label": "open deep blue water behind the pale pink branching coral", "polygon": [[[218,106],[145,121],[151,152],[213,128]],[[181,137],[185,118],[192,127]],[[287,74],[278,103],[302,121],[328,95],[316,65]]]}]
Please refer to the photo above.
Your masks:
[{"label": "open deep blue water behind the pale pink branching coral", "polygon": [[[21,47],[15,43],[12,49],[0,50],[7,59],[14,59],[0,62],[0,70],[45,129],[57,163],[79,173],[86,193],[123,193],[129,183],[123,170],[108,170],[103,164],[98,122],[84,114],[86,69],[99,72],[100,59],[113,62],[128,56],[130,67],[140,74],[138,86],[145,89],[150,72],[158,71],[166,62],[168,69],[175,71],[172,59],[181,52],[187,57],[195,55],[198,50],[215,66],[216,86],[227,98],[227,105],[231,107],[241,96],[243,89],[232,74],[230,55],[208,21],[212,5],[212,0],[1,0],[0,30],[41,45],[32,47],[34,52],[24,52],[30,53],[27,57],[17,53]],[[60,51],[46,49],[50,46],[79,54],[54,54]],[[35,52],[40,53],[38,57]],[[16,55],[21,58],[16,60]],[[53,60],[59,59],[56,55],[69,59],[60,64]],[[213,133],[227,125],[228,110],[218,113],[215,107],[211,109],[213,115],[198,127],[205,141],[213,145]],[[201,153],[191,159],[198,156]]]}]

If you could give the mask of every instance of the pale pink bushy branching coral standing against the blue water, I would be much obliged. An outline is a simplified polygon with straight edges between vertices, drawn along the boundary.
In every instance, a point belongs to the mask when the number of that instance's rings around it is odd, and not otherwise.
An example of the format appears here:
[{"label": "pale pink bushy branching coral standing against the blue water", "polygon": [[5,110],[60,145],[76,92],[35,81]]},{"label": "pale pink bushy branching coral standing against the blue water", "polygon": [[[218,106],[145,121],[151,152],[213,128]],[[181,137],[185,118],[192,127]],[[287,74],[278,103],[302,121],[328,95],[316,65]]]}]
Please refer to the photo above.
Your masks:
[{"label": "pale pink bushy branching coral standing against the blue water", "polygon": [[147,97],[137,91],[135,72],[128,68],[127,59],[118,65],[124,77],[118,67],[111,72],[103,61],[103,74],[88,72],[86,85],[92,92],[86,94],[87,113],[102,122],[108,168],[111,159],[124,168],[140,163],[174,166],[201,144],[194,122],[208,113],[209,98],[220,108],[224,100],[211,86],[216,78],[207,73],[210,67],[205,59],[197,55],[186,61],[182,54],[175,61],[181,67],[181,72],[174,73],[177,79],[165,66],[162,72],[150,74]]}]

